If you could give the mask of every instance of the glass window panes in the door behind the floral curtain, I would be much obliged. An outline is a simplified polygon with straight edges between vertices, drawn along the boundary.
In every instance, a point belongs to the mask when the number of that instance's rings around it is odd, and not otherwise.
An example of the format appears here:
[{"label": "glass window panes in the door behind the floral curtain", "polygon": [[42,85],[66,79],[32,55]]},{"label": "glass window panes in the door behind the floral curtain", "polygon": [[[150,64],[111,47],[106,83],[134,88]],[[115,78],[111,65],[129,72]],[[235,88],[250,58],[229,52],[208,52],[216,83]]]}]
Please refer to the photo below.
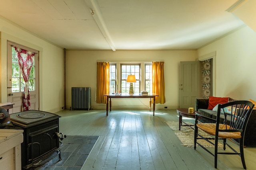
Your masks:
[{"label": "glass window panes in the door behind the floral curtain", "polygon": [[[35,74],[34,74],[35,62],[33,59],[30,76],[28,79],[29,91],[35,90]],[[22,77],[20,67],[18,64],[18,56],[16,55],[15,48],[12,47],[12,92],[23,92],[25,81]]]}]

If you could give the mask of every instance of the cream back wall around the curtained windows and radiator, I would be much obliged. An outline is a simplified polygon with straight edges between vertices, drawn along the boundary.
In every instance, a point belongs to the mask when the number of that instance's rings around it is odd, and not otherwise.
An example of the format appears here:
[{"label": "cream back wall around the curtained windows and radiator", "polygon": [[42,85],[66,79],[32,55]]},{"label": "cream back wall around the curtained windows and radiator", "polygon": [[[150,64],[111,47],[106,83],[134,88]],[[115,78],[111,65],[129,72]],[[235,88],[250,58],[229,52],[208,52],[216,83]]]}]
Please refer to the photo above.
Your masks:
[{"label": "cream back wall around the curtained windows and radiator", "polygon": [[[184,51],[72,51],[66,52],[66,106],[71,107],[71,87],[91,87],[91,105],[94,109],[105,109],[104,104],[96,104],[96,63],[109,61],[130,63],[139,61],[164,61],[165,96],[164,105],[157,104],[156,108],[167,106],[168,109],[179,107],[179,68],[180,61],[196,61],[197,52]],[[123,61],[123,62],[122,62]],[[145,109],[148,99],[112,99],[112,108]],[[146,106],[144,106],[144,104]]]}]

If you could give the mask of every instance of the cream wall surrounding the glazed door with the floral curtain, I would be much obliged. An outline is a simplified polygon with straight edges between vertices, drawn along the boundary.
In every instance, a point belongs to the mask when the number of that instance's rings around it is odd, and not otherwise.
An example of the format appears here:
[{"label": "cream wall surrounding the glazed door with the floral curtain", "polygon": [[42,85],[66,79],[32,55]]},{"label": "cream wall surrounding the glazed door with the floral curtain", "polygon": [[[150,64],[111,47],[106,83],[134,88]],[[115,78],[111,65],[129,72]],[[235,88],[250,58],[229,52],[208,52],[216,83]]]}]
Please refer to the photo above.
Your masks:
[{"label": "cream wall surrounding the glazed door with the floral curtain", "polygon": [[64,60],[63,49],[24,31],[18,26],[0,18],[0,102],[7,102],[7,40],[39,51],[40,110],[52,113],[64,106]]}]

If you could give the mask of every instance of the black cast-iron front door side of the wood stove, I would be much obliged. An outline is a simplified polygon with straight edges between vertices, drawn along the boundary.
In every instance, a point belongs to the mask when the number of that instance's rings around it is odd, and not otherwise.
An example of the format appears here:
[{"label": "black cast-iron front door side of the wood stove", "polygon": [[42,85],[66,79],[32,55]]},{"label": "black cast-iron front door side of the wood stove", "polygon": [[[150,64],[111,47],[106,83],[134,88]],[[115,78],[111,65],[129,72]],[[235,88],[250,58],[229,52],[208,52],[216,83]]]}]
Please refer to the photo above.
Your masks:
[{"label": "black cast-iron front door side of the wood stove", "polygon": [[58,132],[58,125],[29,134],[28,160],[30,163],[42,160],[59,148],[59,138],[56,132]]}]

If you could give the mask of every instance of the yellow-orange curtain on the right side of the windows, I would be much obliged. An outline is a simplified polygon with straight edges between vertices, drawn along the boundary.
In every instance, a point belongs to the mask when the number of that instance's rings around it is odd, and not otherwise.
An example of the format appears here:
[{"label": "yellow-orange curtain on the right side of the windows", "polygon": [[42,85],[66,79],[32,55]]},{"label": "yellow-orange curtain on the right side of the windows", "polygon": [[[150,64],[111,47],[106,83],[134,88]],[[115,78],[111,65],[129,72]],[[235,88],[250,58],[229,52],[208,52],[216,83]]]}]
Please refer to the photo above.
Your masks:
[{"label": "yellow-orange curtain on the right side of the windows", "polygon": [[152,62],[152,93],[158,94],[156,97],[156,104],[165,103],[164,94],[164,62]]}]

